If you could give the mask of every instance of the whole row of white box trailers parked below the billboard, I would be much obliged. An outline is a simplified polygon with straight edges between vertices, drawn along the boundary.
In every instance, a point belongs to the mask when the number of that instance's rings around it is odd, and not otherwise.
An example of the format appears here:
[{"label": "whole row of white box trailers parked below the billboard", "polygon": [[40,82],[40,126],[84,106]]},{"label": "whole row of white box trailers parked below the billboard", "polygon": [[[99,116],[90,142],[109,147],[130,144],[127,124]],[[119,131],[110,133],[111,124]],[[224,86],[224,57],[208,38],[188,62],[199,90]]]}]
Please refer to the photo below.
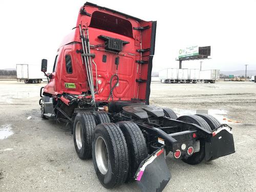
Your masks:
[{"label": "whole row of white box trailers parked below the billboard", "polygon": [[200,71],[199,69],[168,68],[159,71],[159,79],[164,83],[215,83],[220,79],[220,70]]}]

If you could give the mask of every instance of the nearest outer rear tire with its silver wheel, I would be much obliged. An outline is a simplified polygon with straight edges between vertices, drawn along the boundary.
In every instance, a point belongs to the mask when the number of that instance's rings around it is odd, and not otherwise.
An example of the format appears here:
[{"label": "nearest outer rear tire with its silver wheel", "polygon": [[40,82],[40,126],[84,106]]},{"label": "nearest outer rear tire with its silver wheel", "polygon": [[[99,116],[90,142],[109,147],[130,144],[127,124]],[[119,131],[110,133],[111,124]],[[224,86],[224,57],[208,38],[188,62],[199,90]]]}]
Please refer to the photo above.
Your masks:
[{"label": "nearest outer rear tire with its silver wheel", "polygon": [[113,188],[126,181],[129,154],[124,135],[115,123],[96,126],[92,150],[96,175],[105,188]]}]

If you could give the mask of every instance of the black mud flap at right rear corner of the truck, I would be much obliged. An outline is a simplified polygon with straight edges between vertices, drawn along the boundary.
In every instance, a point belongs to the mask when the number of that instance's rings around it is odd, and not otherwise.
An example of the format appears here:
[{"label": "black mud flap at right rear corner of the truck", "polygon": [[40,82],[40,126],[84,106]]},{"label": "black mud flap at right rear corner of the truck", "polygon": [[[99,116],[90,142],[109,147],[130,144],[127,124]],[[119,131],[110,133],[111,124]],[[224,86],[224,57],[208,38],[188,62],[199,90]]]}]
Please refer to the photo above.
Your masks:
[{"label": "black mud flap at right rear corner of the truck", "polygon": [[234,153],[234,139],[231,127],[223,124],[212,132],[211,142],[205,143],[205,160],[214,160]]}]

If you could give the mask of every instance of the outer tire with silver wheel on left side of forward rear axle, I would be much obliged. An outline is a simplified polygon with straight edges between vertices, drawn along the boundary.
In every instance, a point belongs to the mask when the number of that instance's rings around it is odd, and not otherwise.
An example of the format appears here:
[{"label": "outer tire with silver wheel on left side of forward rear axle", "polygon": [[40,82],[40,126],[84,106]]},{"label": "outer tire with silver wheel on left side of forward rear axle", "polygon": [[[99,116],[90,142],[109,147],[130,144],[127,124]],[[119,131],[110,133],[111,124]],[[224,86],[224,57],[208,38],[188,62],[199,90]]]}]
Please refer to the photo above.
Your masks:
[{"label": "outer tire with silver wheel on left side of forward rear axle", "polygon": [[90,113],[77,113],[73,125],[75,150],[80,159],[92,157],[92,137],[96,126],[94,117]]}]

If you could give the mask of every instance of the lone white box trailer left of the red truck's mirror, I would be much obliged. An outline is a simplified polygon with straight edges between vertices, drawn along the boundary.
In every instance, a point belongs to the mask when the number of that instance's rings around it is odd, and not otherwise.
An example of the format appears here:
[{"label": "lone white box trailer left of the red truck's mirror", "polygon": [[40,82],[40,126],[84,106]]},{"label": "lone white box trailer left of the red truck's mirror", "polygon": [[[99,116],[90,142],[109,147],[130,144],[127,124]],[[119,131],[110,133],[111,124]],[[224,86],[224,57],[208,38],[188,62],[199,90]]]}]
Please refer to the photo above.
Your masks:
[{"label": "lone white box trailer left of the red truck's mirror", "polygon": [[41,83],[44,75],[41,73],[40,66],[17,64],[17,81],[24,81],[25,83]]}]

